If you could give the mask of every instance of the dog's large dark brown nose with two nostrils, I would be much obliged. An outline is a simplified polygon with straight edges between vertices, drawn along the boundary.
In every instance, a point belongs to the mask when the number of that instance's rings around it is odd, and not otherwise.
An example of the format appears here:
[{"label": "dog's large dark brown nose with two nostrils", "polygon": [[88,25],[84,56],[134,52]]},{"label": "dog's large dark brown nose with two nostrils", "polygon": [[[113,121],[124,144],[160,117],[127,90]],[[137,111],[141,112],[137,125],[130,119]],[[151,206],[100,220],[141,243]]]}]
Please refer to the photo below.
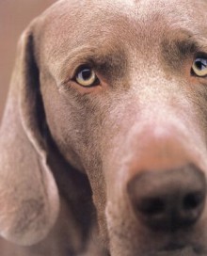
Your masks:
[{"label": "dog's large dark brown nose with two nostrils", "polygon": [[205,176],[194,165],[143,171],[128,184],[135,216],[151,230],[175,232],[193,226],[206,199]]}]

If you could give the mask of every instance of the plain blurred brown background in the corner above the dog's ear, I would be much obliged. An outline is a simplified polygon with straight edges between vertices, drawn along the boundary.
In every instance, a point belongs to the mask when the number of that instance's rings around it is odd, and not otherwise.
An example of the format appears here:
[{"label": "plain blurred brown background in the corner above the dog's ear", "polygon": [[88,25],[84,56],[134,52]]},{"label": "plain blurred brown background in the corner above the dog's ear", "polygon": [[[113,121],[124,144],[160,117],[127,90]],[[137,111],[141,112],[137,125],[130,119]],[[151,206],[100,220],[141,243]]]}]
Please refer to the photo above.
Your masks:
[{"label": "plain blurred brown background in the corner above the dog's ear", "polygon": [[56,0],[0,0],[0,120],[14,65],[17,40],[27,24]]}]

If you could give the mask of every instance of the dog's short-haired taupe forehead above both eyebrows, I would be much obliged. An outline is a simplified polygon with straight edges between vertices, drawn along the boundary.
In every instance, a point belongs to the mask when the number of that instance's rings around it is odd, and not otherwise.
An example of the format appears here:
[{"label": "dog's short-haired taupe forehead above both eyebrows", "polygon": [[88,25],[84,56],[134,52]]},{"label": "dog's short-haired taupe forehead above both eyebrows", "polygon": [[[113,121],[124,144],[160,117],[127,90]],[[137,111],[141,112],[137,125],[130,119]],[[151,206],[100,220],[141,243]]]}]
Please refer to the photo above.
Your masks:
[{"label": "dog's short-haired taupe forehead above both eyebrows", "polygon": [[113,42],[153,47],[171,28],[199,35],[207,26],[204,9],[205,0],[60,0],[40,19],[42,58],[53,61],[81,46],[101,49]]}]

